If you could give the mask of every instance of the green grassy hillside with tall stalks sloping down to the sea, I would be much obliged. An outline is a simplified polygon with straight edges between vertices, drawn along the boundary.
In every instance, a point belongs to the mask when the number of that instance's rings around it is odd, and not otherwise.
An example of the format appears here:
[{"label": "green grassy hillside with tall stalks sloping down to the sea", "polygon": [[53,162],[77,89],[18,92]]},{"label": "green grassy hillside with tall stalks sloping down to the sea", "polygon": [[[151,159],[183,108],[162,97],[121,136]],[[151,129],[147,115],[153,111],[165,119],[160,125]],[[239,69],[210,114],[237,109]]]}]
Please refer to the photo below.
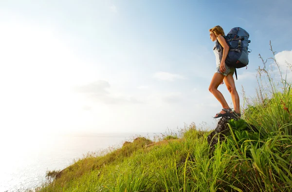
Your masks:
[{"label": "green grassy hillside with tall stalks sloping down to the sea", "polygon": [[48,172],[48,183],[37,191],[291,192],[291,83],[281,80],[279,89],[266,63],[259,74],[256,99],[247,104],[243,119],[227,124],[230,133],[214,152],[207,143],[210,133],[192,124],[180,138],[139,138],[107,154],[88,155],[61,172]]}]

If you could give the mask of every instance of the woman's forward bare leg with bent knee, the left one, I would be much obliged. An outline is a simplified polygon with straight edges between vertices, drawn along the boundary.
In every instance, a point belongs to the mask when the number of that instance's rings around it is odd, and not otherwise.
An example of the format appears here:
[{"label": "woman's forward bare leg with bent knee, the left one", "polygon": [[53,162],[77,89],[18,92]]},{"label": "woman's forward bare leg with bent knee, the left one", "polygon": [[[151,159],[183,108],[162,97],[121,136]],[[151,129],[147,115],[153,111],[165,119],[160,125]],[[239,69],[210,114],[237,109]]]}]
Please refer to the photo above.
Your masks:
[{"label": "woman's forward bare leg with bent knee, the left one", "polygon": [[[209,91],[217,98],[217,100],[222,105],[222,108],[229,109],[230,107],[228,106],[224,96],[221,94],[221,92],[219,92],[217,90],[218,86],[223,81],[224,77],[225,76],[222,75],[222,74],[215,73],[213,78],[212,78],[212,80],[211,80],[211,83],[210,83],[210,86],[209,86]],[[226,112],[225,111],[221,111],[220,113],[221,114],[225,114]]]}]

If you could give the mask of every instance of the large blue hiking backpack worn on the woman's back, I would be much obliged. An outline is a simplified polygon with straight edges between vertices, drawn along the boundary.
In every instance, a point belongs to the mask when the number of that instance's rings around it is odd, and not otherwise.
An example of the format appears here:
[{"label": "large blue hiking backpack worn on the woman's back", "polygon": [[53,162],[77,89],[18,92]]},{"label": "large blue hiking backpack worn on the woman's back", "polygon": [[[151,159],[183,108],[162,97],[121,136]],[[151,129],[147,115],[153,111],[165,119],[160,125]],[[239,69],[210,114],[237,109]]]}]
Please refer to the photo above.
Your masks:
[{"label": "large blue hiking backpack worn on the woman's back", "polygon": [[[251,41],[248,39],[249,34],[240,27],[235,27],[227,34],[223,36],[229,45],[229,52],[225,60],[226,65],[229,67],[242,68],[248,65],[248,43]],[[216,47],[219,52],[223,53],[223,48],[216,41]],[[235,69],[235,76],[237,79],[237,72]]]}]

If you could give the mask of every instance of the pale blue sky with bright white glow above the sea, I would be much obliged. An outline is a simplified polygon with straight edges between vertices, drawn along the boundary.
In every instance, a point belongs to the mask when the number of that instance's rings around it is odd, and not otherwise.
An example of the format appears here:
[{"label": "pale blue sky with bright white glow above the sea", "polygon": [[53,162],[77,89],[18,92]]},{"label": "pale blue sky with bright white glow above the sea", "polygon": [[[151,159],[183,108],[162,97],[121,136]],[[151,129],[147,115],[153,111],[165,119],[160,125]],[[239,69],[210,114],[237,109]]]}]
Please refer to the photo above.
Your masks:
[{"label": "pale blue sky with bright white glow above the sea", "polygon": [[[0,115],[7,133],[214,129],[221,110],[209,29],[250,34],[237,91],[255,96],[258,54],[292,63],[290,0],[1,0]],[[289,72],[288,78],[292,76]],[[219,90],[230,104],[225,85]],[[243,102],[241,100],[241,105]]]}]

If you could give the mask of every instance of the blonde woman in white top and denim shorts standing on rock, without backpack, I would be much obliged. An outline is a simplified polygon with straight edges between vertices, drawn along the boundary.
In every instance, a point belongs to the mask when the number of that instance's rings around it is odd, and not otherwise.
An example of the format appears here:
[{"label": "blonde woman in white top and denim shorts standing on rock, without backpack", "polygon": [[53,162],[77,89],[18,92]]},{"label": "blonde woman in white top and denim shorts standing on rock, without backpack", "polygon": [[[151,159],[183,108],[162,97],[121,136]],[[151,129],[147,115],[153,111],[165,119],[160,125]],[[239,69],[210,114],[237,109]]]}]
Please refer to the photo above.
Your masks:
[{"label": "blonde woman in white top and denim shorts standing on rock, without backpack", "polygon": [[[223,53],[220,53],[217,49],[217,45],[213,48],[214,54],[216,57],[216,66],[217,70],[212,78],[212,81],[209,86],[209,91],[218,99],[218,101],[222,105],[222,111],[217,113],[214,118],[218,118],[221,116],[233,116],[233,117],[240,117],[240,106],[239,106],[239,96],[235,87],[233,74],[235,68],[228,67],[225,65],[225,60],[229,51],[229,46],[226,43],[224,37],[224,31],[222,27],[219,25],[209,29],[210,31],[210,38],[212,41],[217,40],[219,42],[218,46],[221,46],[221,50],[223,49]],[[224,96],[217,90],[218,86],[223,82],[231,94],[232,102],[234,105],[234,112],[228,106]]]}]

